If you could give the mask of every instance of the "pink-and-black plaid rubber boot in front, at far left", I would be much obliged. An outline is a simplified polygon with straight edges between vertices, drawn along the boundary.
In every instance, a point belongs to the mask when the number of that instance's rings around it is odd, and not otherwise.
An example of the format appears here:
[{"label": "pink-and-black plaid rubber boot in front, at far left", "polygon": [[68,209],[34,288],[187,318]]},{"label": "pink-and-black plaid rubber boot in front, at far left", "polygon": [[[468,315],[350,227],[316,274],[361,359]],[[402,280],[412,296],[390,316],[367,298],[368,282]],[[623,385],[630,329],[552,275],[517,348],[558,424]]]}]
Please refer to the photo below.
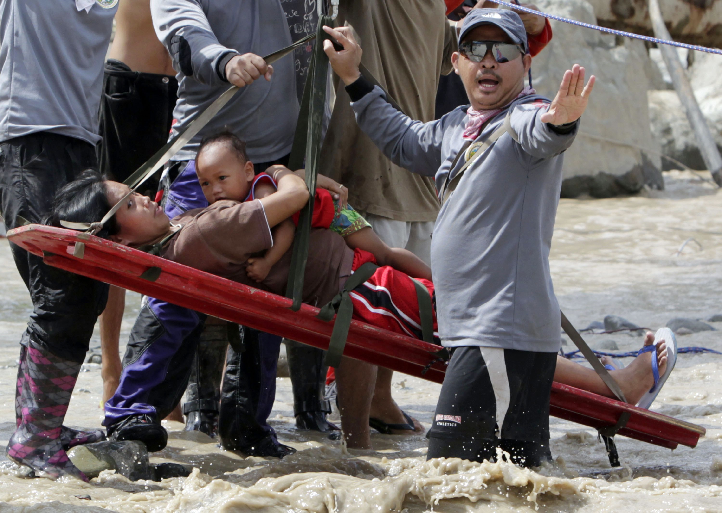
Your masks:
[{"label": "pink-and-black plaid rubber boot in front, at far left", "polygon": [[7,444],[8,458],[52,479],[87,477],[68,458],[61,429],[80,365],[29,342],[21,352],[16,408],[19,425]]}]

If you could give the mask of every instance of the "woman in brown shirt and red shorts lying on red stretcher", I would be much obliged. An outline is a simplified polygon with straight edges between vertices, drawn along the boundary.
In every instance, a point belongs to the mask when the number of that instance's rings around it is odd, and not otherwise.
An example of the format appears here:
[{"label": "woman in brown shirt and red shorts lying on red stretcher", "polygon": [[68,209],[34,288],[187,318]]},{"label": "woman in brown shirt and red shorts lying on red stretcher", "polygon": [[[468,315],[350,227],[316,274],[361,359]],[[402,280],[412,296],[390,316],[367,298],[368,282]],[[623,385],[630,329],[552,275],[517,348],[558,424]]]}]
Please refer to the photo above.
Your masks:
[{"label": "woman in brown shirt and red shorts lying on red stretcher", "polygon": [[[124,205],[105,223],[98,236],[137,248],[156,244],[174,234],[160,251],[161,257],[282,295],[287,283],[291,251],[282,255],[261,282],[248,277],[248,259],[273,247],[271,228],[279,226],[303,208],[309,193],[303,179],[282,166],[269,168],[269,174],[277,184],[277,192],[260,200],[219,200],[207,208],[191,210],[169,220],[162,208],[148,197],[139,194],[126,197],[129,193],[126,185],[105,180],[95,171],[86,171],[77,181],[58,192],[51,223],[55,226],[60,226],[60,220],[92,223],[103,218],[113,205],[125,198]],[[303,301],[317,305],[329,302],[342,289],[354,269],[374,261],[373,254],[350,249],[337,233],[324,228],[313,229]],[[432,282],[419,281],[433,295]],[[351,297],[355,319],[422,338],[414,284],[403,272],[389,266],[379,267],[373,277],[354,289]],[[648,334],[645,345],[652,341],[653,336]],[[657,346],[659,372],[664,374],[666,344]],[[651,354],[645,352],[631,365],[612,371],[630,403],[637,403],[653,385],[650,363]],[[364,373],[371,372],[370,367],[363,362],[344,359],[336,370],[342,428],[349,447],[370,446],[367,422],[373,385],[366,383],[361,386],[360,383],[367,381]],[[612,396],[593,370],[561,357],[557,359],[554,380]]]}]

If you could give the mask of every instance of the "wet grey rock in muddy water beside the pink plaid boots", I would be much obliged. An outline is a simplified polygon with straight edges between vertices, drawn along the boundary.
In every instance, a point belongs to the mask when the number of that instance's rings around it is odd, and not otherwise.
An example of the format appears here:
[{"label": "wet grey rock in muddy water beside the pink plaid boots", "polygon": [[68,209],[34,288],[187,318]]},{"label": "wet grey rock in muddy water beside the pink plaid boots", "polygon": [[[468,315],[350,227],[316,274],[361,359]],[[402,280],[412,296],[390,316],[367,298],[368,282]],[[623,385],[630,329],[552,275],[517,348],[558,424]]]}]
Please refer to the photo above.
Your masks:
[{"label": "wet grey rock in muddy water beside the pink plaid boots", "polygon": [[135,440],[79,445],[69,450],[68,456],[91,479],[103,470],[116,470],[131,481],[155,477],[148,450],[142,442]]}]

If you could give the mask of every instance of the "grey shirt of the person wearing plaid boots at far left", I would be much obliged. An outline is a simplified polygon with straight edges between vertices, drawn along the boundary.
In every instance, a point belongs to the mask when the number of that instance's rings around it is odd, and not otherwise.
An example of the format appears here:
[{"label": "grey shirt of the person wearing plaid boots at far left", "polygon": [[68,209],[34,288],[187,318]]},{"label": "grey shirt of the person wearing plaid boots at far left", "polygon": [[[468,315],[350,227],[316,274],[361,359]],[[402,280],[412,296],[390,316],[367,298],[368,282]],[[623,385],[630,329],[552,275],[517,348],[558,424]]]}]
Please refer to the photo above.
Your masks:
[{"label": "grey shirt of the person wearing plaid boots at far left", "polygon": [[117,9],[0,0],[0,141],[36,132],[100,140],[103,61]]}]

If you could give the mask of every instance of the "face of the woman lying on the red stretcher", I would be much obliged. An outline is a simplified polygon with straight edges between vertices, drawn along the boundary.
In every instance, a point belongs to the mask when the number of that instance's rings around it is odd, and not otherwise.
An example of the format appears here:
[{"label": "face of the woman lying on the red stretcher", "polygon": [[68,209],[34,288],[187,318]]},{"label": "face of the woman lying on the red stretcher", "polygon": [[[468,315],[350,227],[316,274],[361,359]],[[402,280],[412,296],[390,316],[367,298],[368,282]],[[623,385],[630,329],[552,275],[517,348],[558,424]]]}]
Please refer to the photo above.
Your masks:
[{"label": "face of the woman lying on the red stretcher", "polygon": [[[130,192],[127,185],[118,182],[105,182],[108,191],[108,203],[116,205]],[[123,201],[116,212],[116,220],[121,230],[110,238],[126,246],[142,246],[165,235],[170,230],[170,220],[163,209],[149,197],[134,192]]]}]

